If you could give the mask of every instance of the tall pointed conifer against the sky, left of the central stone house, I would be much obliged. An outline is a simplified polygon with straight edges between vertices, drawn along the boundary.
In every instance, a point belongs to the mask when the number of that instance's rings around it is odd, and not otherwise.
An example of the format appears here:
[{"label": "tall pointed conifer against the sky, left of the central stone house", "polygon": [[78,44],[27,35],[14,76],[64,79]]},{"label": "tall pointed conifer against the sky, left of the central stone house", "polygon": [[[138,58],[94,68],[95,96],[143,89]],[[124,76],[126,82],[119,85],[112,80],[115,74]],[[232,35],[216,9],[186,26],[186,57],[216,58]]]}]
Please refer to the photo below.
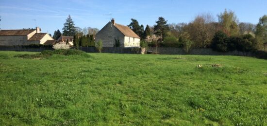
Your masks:
[{"label": "tall pointed conifer against the sky, left of the central stone house", "polygon": [[77,33],[74,21],[71,19],[70,15],[68,15],[62,30],[64,36],[74,36]]}]

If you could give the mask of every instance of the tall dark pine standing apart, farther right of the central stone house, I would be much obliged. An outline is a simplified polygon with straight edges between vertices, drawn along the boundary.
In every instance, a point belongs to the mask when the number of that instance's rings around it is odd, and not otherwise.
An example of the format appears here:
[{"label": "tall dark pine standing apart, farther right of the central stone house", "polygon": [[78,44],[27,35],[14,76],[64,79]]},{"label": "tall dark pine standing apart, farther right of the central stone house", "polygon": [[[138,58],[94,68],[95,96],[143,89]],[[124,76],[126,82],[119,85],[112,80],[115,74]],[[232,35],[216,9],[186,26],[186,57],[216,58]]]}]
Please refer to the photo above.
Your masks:
[{"label": "tall dark pine standing apart, farther right of the central stone house", "polygon": [[167,36],[167,32],[169,30],[167,20],[165,20],[163,17],[159,17],[156,23],[157,24],[154,27],[154,33],[160,37],[159,40],[162,42]]}]

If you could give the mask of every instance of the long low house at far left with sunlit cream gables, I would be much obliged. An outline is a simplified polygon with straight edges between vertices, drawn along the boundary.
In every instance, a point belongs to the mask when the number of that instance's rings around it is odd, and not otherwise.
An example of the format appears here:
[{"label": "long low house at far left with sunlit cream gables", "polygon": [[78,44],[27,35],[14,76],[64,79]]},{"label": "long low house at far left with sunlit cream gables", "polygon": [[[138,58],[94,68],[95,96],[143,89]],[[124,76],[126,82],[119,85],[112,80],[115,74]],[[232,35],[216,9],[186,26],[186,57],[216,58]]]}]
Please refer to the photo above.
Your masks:
[{"label": "long low house at far left with sunlit cream gables", "polygon": [[[40,33],[40,28],[22,29],[22,30],[0,30],[0,45],[30,45],[30,44],[47,44],[54,40],[47,33]],[[55,42],[55,41],[54,41]]]}]

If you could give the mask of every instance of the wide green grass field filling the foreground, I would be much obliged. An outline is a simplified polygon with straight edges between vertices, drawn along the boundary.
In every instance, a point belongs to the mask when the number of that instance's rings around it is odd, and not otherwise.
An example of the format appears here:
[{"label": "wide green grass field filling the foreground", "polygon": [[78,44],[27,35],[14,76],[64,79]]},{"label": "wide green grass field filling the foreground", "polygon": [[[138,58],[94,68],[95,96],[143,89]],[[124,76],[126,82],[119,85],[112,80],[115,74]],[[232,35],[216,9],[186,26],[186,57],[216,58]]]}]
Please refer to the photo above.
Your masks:
[{"label": "wide green grass field filling the foreground", "polygon": [[267,60],[16,54],[34,53],[0,51],[0,125],[267,125]]}]

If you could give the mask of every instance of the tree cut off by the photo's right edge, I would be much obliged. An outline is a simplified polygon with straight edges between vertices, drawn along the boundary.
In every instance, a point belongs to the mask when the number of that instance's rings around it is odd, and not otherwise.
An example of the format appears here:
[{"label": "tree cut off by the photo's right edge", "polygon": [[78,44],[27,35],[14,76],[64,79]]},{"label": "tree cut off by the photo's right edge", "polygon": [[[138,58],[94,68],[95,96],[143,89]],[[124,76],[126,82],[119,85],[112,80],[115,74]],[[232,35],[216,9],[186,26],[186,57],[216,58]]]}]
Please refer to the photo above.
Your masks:
[{"label": "tree cut off by the photo's right edge", "polygon": [[256,39],[257,39],[257,49],[262,49],[263,44],[267,43],[267,15],[264,15],[259,19],[259,23],[256,27]]}]

